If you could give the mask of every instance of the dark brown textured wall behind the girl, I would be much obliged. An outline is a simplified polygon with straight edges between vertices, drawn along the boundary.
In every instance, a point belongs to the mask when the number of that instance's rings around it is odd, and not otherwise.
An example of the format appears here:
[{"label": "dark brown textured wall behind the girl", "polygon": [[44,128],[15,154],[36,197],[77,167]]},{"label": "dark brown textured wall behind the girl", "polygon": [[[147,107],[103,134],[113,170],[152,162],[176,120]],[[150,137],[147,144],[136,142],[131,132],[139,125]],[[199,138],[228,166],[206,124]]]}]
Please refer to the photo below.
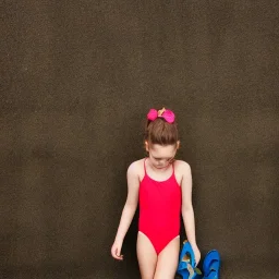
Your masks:
[{"label": "dark brown textured wall behind the girl", "polygon": [[277,0],[3,1],[1,278],[140,278],[110,257],[150,107],[177,112],[203,255],[279,277]]}]

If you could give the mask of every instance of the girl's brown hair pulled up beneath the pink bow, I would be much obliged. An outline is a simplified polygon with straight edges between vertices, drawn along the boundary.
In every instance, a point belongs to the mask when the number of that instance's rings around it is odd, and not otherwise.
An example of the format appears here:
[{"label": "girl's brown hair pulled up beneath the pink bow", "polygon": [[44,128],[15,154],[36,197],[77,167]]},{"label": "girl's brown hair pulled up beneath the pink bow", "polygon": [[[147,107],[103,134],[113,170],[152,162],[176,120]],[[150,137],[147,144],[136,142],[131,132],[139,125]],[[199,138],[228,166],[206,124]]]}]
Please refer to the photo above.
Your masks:
[{"label": "girl's brown hair pulled up beneath the pink bow", "polygon": [[144,140],[150,144],[174,145],[179,141],[177,123],[168,123],[162,118],[147,120]]}]

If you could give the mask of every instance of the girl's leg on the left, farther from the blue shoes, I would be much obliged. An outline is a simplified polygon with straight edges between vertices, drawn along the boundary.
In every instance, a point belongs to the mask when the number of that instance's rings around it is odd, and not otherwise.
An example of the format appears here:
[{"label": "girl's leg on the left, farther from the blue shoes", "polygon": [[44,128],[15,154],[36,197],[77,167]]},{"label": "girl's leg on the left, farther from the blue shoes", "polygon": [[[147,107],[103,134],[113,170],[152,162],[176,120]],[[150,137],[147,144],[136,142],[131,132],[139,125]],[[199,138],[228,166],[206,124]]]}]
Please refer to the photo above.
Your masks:
[{"label": "girl's leg on the left, farther from the blue shoes", "polygon": [[157,264],[157,254],[149,239],[142,232],[137,234],[136,254],[142,279],[153,279]]}]

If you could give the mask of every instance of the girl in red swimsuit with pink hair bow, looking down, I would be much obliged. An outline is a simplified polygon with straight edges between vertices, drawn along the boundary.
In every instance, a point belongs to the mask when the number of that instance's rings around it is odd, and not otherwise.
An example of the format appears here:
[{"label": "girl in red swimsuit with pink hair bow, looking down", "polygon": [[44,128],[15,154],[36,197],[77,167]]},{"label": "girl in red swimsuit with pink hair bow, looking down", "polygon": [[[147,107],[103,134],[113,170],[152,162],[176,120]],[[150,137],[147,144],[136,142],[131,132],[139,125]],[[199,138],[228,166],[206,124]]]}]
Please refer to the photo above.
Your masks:
[{"label": "girl in red swimsuit with pink hair bow, looking down", "polygon": [[180,213],[196,263],[201,253],[195,239],[190,166],[174,156],[180,145],[171,110],[150,109],[145,148],[148,157],[128,169],[128,198],[111,255],[122,260],[121,247],[140,199],[136,253],[142,279],[173,279],[180,250]]}]

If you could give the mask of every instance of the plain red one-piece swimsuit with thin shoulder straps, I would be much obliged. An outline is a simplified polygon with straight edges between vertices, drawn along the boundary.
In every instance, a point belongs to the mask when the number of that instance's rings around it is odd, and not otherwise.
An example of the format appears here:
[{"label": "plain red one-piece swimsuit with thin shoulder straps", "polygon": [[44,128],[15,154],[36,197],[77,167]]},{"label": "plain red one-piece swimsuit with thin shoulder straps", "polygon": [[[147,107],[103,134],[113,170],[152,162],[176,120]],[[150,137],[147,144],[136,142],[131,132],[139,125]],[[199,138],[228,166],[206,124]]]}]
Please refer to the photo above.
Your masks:
[{"label": "plain red one-piece swimsuit with thin shoulder straps", "polygon": [[145,175],[140,184],[138,231],[151,242],[157,255],[180,234],[181,187],[172,174],[165,181]]}]

